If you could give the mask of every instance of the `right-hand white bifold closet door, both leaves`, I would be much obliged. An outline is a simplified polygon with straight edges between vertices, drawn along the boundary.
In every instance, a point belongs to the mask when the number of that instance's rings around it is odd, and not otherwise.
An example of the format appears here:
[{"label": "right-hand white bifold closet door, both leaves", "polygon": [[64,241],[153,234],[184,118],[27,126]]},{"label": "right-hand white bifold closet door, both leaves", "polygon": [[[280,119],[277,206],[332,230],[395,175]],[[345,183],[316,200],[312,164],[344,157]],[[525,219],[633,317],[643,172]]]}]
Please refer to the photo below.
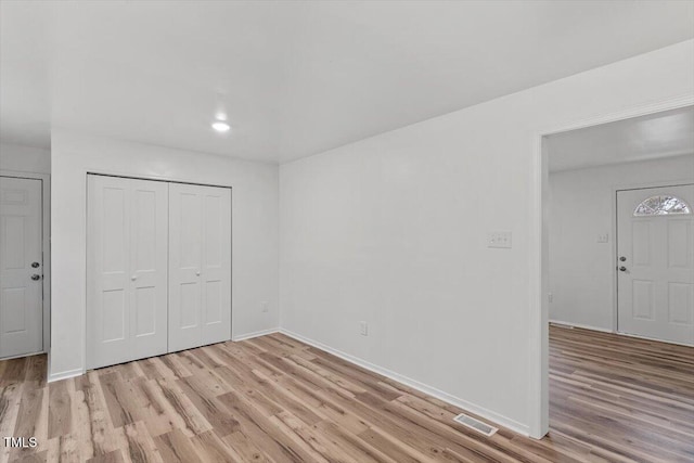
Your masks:
[{"label": "right-hand white bifold closet door, both leaves", "polygon": [[231,338],[231,190],[169,185],[169,351]]}]

